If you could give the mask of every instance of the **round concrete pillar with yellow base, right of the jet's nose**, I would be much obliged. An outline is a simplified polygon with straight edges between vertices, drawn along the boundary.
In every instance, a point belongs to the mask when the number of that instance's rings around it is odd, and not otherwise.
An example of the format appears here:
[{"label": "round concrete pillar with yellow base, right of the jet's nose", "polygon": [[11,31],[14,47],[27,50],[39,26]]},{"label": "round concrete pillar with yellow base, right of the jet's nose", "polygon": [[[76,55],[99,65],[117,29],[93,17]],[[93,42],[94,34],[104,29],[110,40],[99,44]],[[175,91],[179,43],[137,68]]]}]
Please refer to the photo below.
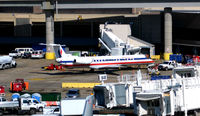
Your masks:
[{"label": "round concrete pillar with yellow base, right of the jet's nose", "polygon": [[164,40],[165,40],[165,51],[164,59],[169,60],[172,54],[172,8],[164,9]]}]

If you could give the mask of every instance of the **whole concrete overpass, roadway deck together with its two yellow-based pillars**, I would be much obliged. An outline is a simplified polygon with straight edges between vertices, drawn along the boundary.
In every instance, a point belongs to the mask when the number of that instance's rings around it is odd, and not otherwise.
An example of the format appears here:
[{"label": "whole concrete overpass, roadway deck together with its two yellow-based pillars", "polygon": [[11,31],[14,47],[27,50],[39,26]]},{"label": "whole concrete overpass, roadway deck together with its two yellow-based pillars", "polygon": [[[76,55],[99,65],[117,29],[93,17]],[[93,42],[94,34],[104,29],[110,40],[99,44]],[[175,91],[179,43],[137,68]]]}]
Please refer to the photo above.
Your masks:
[{"label": "whole concrete overpass, roadway deck together with its two yellow-based pillars", "polygon": [[[41,6],[46,16],[46,43],[54,43],[54,11],[59,9],[164,7],[165,59],[172,53],[172,7],[199,7],[199,0],[1,0],[0,7]],[[53,48],[47,46],[47,58],[53,59]]]}]

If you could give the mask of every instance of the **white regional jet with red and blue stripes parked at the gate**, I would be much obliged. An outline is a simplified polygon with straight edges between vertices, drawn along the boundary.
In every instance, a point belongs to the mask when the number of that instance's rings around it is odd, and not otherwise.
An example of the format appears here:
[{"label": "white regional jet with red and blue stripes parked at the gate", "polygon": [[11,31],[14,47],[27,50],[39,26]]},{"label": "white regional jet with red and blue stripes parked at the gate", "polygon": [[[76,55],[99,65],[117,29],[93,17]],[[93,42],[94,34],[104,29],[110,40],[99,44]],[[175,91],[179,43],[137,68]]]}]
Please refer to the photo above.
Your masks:
[{"label": "white regional jet with red and blue stripes parked at the gate", "polygon": [[145,55],[92,56],[79,57],[66,54],[61,46],[54,46],[56,61],[66,68],[88,67],[91,69],[117,68],[128,65],[152,64],[153,60]]}]

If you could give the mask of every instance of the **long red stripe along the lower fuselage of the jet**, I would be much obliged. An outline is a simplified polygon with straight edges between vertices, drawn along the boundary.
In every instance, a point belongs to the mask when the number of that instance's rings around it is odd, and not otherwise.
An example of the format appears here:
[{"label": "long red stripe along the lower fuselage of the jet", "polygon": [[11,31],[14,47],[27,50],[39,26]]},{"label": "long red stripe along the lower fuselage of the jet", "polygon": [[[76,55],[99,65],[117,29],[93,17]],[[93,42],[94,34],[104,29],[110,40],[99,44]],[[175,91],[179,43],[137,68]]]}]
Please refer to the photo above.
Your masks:
[{"label": "long red stripe along the lower fuselage of the jet", "polygon": [[79,66],[99,66],[99,65],[117,65],[117,64],[149,64],[154,61],[139,61],[139,62],[115,62],[115,63],[94,63],[94,64],[64,64],[65,67],[79,67]]}]

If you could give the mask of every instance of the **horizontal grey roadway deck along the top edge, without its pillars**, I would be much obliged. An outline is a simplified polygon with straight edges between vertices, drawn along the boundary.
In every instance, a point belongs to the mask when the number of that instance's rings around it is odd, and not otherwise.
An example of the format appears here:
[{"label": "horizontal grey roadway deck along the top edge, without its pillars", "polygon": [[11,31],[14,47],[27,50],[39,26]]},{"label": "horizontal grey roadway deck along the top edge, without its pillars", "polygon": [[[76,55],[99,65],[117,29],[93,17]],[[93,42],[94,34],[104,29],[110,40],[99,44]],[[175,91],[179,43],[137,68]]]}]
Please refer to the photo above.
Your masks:
[{"label": "horizontal grey roadway deck along the top edge, without its pillars", "polygon": [[[0,0],[0,7],[41,6],[45,0]],[[56,1],[56,0],[50,0]],[[199,0],[57,0],[57,9],[199,7]]]}]

